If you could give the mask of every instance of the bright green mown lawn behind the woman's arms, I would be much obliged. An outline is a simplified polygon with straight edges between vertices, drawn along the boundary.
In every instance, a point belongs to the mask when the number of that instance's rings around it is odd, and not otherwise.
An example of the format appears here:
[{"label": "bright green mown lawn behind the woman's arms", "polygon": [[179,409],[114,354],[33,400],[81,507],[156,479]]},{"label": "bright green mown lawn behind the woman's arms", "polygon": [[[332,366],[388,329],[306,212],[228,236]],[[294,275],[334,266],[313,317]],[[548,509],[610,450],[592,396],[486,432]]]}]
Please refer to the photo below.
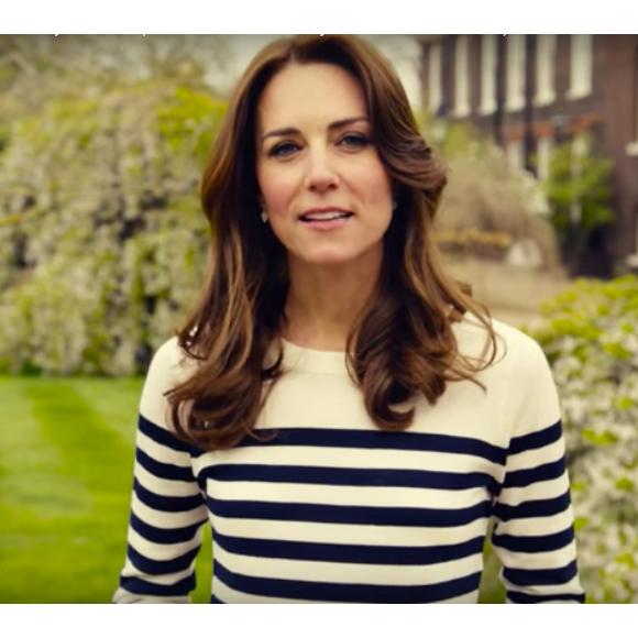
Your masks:
[{"label": "bright green mown lawn behind the woman's arms", "polygon": [[[109,604],[142,380],[0,378],[0,604]],[[492,557],[483,601],[501,602]],[[207,532],[194,601],[210,596]]]}]

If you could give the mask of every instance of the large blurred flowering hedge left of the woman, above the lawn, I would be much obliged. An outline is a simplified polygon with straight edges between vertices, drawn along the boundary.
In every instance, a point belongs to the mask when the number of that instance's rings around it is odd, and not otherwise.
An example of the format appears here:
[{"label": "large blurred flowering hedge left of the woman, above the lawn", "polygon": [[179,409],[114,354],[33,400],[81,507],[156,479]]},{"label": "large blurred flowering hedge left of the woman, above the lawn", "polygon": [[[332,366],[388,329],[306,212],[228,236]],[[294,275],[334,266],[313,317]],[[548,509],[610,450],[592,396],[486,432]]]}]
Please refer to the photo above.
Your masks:
[{"label": "large blurred flowering hedge left of the woman, above the lawn", "polygon": [[101,96],[67,84],[12,123],[0,156],[0,370],[144,369],[206,267],[198,184],[224,110],[170,79]]}]

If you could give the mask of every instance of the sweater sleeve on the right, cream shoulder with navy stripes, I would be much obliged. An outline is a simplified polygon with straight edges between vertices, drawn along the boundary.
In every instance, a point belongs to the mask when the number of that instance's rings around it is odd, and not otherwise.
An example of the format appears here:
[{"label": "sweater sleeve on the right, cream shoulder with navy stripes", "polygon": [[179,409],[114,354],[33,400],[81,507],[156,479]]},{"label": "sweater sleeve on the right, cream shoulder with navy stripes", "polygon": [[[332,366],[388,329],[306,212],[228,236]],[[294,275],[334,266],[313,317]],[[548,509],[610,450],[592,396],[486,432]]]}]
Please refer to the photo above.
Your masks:
[{"label": "sweater sleeve on the right, cream shoulder with navy stripes", "polygon": [[492,537],[501,581],[507,604],[584,604],[557,387],[540,345],[522,333],[515,341],[504,384],[509,448]]}]

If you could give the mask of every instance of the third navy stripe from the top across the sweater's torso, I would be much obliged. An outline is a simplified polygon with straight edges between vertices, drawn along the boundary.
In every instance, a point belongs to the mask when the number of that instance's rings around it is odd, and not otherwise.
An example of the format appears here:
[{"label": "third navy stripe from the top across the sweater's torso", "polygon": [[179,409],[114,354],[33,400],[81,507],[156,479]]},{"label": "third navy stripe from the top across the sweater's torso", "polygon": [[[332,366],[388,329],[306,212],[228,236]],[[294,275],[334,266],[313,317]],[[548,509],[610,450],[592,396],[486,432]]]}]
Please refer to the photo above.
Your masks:
[{"label": "third navy stripe from the top across the sweater's torso", "polygon": [[413,507],[354,507],[208,499],[210,512],[222,518],[374,525],[377,527],[463,527],[488,518],[492,503],[485,501],[465,509],[418,509]]}]

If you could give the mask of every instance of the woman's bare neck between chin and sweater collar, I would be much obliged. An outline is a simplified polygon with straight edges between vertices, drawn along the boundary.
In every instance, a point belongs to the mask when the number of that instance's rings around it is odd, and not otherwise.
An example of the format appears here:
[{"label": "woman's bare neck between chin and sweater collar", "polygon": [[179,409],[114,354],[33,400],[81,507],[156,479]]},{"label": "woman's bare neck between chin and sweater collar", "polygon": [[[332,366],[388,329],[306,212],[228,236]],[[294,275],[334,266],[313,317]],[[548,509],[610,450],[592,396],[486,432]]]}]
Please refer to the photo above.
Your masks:
[{"label": "woman's bare neck between chin and sweater collar", "polygon": [[301,348],[344,351],[348,336],[374,295],[380,273],[378,257],[339,267],[289,260],[283,337]]}]

